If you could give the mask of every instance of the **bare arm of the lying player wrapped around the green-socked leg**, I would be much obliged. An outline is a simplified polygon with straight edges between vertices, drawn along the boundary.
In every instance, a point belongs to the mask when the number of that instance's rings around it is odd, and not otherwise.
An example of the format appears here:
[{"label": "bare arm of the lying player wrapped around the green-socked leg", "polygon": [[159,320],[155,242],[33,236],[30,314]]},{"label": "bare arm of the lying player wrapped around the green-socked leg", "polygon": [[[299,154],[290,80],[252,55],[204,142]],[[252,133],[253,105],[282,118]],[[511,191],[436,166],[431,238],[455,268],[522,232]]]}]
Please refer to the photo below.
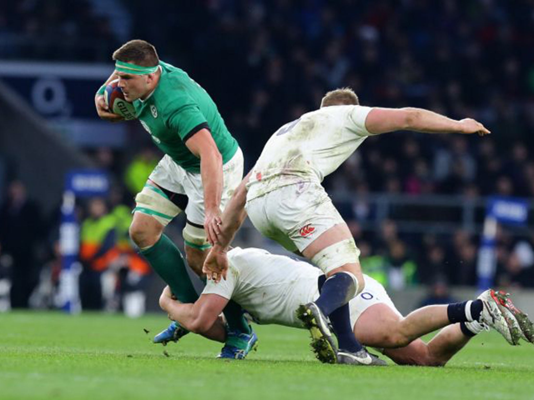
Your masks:
[{"label": "bare arm of the lying player wrapped around the green-socked leg", "polygon": [[188,331],[224,342],[226,332],[218,316],[228,303],[218,294],[202,294],[194,303],[180,303],[172,299],[169,286],[163,289],[160,296],[160,307],[169,314],[171,319],[178,321]]}]

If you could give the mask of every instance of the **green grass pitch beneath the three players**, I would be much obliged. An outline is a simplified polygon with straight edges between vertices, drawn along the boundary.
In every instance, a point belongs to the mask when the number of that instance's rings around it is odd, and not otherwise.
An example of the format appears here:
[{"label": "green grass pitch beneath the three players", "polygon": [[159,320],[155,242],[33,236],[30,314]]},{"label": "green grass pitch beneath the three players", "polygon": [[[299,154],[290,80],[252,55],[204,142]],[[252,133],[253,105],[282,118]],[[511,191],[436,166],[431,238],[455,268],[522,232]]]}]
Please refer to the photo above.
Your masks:
[{"label": "green grass pitch beneath the three players", "polygon": [[221,345],[193,334],[153,345],[167,324],[163,315],[0,314],[0,399],[534,399],[534,346],[496,333],[444,368],[373,368],[322,365],[306,331],[279,326],[255,326],[260,346],[245,361],[214,359]]}]

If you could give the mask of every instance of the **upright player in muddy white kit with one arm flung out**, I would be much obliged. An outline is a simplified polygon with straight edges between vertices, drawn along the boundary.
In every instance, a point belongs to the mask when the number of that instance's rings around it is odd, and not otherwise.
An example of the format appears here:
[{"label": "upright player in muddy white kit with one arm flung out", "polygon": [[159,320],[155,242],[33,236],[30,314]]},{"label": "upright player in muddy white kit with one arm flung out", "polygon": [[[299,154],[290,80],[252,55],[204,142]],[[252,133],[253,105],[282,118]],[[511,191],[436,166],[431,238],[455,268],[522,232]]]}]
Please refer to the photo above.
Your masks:
[{"label": "upright player in muddy white kit with one arm flung out", "polygon": [[350,89],[329,92],[320,109],[282,126],[266,143],[226,207],[219,243],[203,268],[208,278],[218,281],[224,276],[226,248],[246,213],[263,235],[311,260],[328,279],[319,298],[303,305],[299,315],[310,329],[318,357],[325,362],[371,364],[371,358],[352,334],[347,306],[364,289],[359,250],[321,181],[368,136],[396,130],[490,133],[474,119],[455,121],[416,108],[364,107]]}]

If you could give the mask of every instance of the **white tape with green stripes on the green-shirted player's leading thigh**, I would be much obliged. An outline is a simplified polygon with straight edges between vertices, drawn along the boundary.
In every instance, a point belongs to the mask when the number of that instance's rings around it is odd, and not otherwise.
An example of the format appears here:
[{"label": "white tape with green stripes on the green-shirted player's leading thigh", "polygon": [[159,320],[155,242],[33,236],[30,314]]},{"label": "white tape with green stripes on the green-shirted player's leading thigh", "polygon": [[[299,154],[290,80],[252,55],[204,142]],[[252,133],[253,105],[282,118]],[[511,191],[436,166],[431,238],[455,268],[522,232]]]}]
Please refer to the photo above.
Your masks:
[{"label": "white tape with green stripes on the green-shirted player's leading thigh", "polygon": [[172,203],[160,189],[145,186],[135,197],[136,207],[133,212],[141,212],[150,215],[163,226],[167,226],[170,221],[182,210]]}]

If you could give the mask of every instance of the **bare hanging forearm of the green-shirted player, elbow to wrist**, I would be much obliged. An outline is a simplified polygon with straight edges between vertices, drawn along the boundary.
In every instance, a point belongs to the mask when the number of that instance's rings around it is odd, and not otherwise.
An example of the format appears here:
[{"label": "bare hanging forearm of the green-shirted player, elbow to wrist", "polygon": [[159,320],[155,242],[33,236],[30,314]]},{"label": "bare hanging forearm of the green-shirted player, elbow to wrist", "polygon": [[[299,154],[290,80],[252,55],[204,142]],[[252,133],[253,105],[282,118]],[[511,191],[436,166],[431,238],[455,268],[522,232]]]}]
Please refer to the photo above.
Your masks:
[{"label": "bare hanging forearm of the green-shirted player, elbow to wrist", "polygon": [[206,210],[218,209],[223,193],[223,159],[218,151],[200,158],[200,175]]}]

